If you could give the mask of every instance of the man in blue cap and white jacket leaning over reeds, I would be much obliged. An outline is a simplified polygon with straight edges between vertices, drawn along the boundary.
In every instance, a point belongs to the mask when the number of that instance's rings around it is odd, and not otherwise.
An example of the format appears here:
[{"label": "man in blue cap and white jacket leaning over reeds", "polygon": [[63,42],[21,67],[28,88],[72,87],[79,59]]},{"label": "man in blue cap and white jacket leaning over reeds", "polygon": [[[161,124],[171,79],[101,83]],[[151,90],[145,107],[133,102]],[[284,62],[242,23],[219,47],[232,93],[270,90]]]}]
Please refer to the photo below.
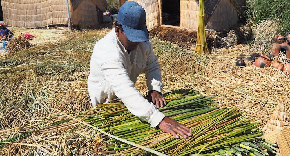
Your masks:
[{"label": "man in blue cap and white jacket leaning over reeds", "polygon": [[[191,136],[191,129],[167,118],[157,108],[164,107],[160,64],[153,53],[146,27],[146,12],[136,2],[126,1],[119,9],[115,28],[94,46],[88,77],[88,91],[93,107],[118,97],[128,110],[151,127],[179,138]],[[135,88],[144,71],[149,103]]]}]

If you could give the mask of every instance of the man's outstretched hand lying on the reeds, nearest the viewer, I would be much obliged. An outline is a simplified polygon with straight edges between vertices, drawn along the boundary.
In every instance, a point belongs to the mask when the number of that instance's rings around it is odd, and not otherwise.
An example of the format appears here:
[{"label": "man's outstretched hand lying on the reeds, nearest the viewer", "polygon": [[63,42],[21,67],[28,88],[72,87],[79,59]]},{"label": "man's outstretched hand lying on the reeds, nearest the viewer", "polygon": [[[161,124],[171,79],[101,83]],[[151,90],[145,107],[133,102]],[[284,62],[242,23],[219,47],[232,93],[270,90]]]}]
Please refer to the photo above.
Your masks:
[{"label": "man's outstretched hand lying on the reeds, nearest the viewer", "polygon": [[[173,135],[175,138],[179,138],[177,134],[183,136],[183,138],[187,138],[187,136],[191,136],[191,129],[178,123],[176,120],[164,117],[163,120],[158,124],[158,127],[166,132]],[[177,133],[177,134],[176,134]]]}]

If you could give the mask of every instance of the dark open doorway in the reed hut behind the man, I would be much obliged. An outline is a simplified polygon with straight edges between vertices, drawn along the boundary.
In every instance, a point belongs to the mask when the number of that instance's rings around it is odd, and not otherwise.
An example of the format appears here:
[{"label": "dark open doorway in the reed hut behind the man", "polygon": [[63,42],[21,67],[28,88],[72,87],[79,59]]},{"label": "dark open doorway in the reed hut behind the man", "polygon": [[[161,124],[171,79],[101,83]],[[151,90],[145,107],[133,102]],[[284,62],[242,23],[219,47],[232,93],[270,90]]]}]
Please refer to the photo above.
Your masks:
[{"label": "dark open doorway in the reed hut behind the man", "polygon": [[180,0],[166,0],[162,2],[162,24],[179,26]]}]

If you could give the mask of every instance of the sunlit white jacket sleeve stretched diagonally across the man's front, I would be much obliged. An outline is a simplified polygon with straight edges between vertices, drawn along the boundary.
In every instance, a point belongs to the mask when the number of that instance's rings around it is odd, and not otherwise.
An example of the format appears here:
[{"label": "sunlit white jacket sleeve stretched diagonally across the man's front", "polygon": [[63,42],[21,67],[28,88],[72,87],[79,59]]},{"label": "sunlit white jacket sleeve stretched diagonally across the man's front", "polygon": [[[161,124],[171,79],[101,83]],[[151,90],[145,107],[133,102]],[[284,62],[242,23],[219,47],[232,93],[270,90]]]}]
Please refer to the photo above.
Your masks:
[{"label": "sunlit white jacket sleeve stretched diagonally across the man's front", "polygon": [[113,87],[115,95],[123,101],[132,114],[148,122],[151,127],[156,127],[161,122],[165,115],[134,88],[134,83],[121,62],[106,62],[102,64],[101,69],[106,80]]}]

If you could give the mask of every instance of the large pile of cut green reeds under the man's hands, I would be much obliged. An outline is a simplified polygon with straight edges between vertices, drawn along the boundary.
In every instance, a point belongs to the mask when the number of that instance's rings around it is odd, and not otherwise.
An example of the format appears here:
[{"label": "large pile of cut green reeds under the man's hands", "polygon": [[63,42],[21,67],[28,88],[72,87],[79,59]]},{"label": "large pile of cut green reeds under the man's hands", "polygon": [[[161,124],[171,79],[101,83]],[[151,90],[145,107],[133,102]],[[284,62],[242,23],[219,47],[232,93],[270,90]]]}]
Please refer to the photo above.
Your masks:
[{"label": "large pile of cut green reeds under the man's hands", "polygon": [[[171,134],[153,129],[133,116],[122,103],[99,104],[99,117],[90,124],[104,131],[168,155],[267,155],[263,149],[275,152],[273,144],[262,141],[259,124],[245,117],[238,108],[209,107],[210,97],[191,90],[165,94],[169,101],[160,108],[166,116],[192,129],[192,137],[175,139]],[[150,155],[141,149],[116,139],[99,140],[108,143],[100,148],[115,150],[117,155]],[[265,143],[267,142],[267,143]],[[268,144],[269,143],[269,144]]]}]

